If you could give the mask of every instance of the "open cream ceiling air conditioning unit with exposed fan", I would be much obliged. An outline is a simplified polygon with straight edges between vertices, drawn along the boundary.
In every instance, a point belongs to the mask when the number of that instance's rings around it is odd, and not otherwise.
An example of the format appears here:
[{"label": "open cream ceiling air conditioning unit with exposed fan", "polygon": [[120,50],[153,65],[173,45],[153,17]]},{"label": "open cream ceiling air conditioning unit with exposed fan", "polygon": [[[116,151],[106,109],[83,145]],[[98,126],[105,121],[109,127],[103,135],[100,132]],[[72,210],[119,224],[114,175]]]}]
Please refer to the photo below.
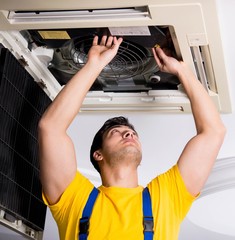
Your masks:
[{"label": "open cream ceiling air conditioning unit with exposed fan", "polygon": [[81,111],[189,112],[179,80],[155,64],[158,44],[192,68],[220,112],[231,112],[215,0],[1,1],[2,47],[52,100],[103,34],[124,41]]}]

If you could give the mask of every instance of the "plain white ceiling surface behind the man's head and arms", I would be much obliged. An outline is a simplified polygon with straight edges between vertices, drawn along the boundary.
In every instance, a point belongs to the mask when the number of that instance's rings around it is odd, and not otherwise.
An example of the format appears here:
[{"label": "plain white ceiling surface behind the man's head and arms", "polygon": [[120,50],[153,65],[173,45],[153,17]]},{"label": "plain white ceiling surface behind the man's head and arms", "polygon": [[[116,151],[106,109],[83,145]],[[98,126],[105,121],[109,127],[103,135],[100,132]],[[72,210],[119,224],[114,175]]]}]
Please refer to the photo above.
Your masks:
[{"label": "plain white ceiling surface behind the man's head and arms", "polygon": [[[233,109],[235,106],[235,30],[232,23],[235,20],[234,0],[217,0],[219,20],[221,26],[222,43],[225,53],[227,77],[229,79]],[[193,118],[190,114],[154,114],[148,112],[128,113],[123,112],[135,125],[143,147],[143,161],[139,167],[139,182],[145,185],[149,180],[164,172],[176,163],[186,142],[195,134]],[[99,185],[100,180],[88,161],[89,148],[97,129],[103,122],[113,117],[111,113],[82,113],[69,129],[69,134],[74,140],[79,169],[90,176],[94,184]],[[235,113],[222,114],[223,122],[227,128],[225,142],[218,155],[218,161],[231,157],[232,166],[235,156]],[[81,147],[82,146],[82,147]],[[228,168],[226,168],[228,170]],[[227,170],[221,168],[220,177],[226,176]],[[233,168],[234,169],[234,168]],[[234,169],[235,170],[235,169]],[[235,172],[235,171],[234,171]],[[215,176],[218,181],[220,177]],[[225,182],[223,186],[227,186]],[[214,189],[213,193],[199,198],[191,208],[188,216],[182,224],[179,240],[234,240],[235,219],[235,188],[222,187]],[[0,229],[0,240],[22,240],[5,228]],[[47,213],[45,233],[43,240],[58,240],[57,227]]]}]

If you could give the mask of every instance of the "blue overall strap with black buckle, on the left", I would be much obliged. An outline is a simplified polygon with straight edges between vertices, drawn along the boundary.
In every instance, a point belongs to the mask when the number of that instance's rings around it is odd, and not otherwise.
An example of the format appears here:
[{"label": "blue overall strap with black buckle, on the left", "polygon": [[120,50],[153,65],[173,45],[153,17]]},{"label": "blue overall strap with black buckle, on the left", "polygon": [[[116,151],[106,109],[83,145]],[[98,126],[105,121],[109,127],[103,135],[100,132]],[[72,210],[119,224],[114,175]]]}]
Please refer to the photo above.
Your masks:
[{"label": "blue overall strap with black buckle, on the left", "polygon": [[85,208],[83,209],[82,218],[80,218],[79,221],[79,240],[87,239],[89,230],[89,220],[98,194],[99,190],[96,187],[94,187],[88,197]]}]

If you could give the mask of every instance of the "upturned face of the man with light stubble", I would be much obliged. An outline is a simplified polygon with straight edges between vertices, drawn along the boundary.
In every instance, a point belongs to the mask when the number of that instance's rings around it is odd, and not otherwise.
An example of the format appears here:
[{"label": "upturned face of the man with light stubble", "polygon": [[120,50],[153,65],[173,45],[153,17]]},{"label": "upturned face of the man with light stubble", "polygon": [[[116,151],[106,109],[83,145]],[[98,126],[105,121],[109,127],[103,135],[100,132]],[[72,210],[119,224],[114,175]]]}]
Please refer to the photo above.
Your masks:
[{"label": "upturned face of the man with light stubble", "polygon": [[104,134],[101,152],[110,164],[123,162],[138,166],[142,158],[138,134],[128,126],[114,126],[109,129]]}]

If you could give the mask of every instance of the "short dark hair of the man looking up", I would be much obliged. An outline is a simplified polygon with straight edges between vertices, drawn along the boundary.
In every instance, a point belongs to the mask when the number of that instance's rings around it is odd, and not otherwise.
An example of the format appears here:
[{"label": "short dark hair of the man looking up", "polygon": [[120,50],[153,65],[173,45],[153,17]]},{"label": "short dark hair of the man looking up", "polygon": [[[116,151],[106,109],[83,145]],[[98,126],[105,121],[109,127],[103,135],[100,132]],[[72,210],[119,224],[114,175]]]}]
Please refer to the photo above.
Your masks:
[{"label": "short dark hair of the man looking up", "polygon": [[110,130],[111,128],[115,126],[127,126],[130,129],[135,131],[134,126],[129,122],[129,120],[123,116],[120,117],[114,117],[108,119],[104,125],[99,129],[99,131],[96,133],[93,142],[91,144],[91,149],[90,149],[90,160],[91,163],[93,164],[94,168],[100,173],[100,167],[98,165],[98,162],[94,159],[93,154],[95,151],[99,150],[102,148],[103,145],[103,137],[104,134]]}]

